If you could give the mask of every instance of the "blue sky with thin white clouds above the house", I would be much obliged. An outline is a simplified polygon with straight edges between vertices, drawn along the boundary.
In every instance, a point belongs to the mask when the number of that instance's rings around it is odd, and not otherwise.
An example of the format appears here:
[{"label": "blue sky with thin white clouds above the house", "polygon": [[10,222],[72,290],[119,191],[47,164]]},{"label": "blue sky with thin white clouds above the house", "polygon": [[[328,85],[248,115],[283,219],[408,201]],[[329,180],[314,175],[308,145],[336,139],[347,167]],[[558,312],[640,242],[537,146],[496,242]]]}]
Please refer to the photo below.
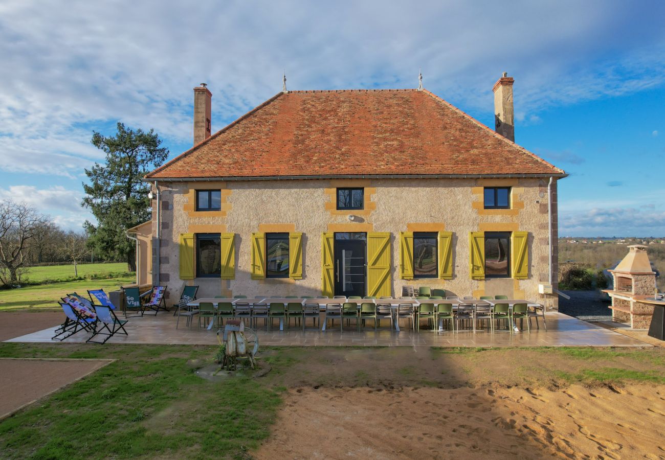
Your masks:
[{"label": "blue sky with thin white clouds above the house", "polygon": [[515,140],[565,169],[559,232],[665,236],[665,2],[0,3],[0,199],[63,227],[89,218],[92,130],[192,143],[192,88],[213,131],[281,90],[424,86],[493,126],[515,78]]}]

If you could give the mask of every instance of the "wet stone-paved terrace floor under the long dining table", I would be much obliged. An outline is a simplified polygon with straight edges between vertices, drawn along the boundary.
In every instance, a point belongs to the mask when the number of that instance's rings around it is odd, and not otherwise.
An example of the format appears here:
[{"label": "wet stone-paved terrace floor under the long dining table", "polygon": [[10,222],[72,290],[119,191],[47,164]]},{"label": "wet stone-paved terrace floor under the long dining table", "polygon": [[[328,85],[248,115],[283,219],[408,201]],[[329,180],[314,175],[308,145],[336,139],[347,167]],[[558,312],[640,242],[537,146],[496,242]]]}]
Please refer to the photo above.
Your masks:
[{"label": "wet stone-paved terrace floor under the long dining table", "polygon": [[[122,316],[120,316],[122,318]],[[338,328],[331,328],[327,332],[321,332],[311,326],[311,320],[307,322],[307,329],[291,326],[288,331],[271,330],[265,328],[258,330],[259,344],[262,346],[451,346],[451,347],[476,347],[476,346],[627,346],[642,347],[650,346],[645,342],[636,340],[617,332],[612,332],[595,324],[578,320],[562,313],[547,313],[547,331],[543,328],[535,328],[532,321],[531,333],[519,332],[510,334],[506,330],[491,334],[487,330],[475,332],[462,331],[444,332],[436,334],[431,330],[412,332],[402,324],[402,330],[396,332],[388,328],[388,322],[382,323],[382,327],[374,332],[374,327],[365,328],[364,332],[356,332],[354,325],[345,326],[344,332]],[[63,314],[64,319],[64,314]],[[338,324],[338,323],[336,323]],[[368,322],[371,324],[371,322]],[[107,343],[126,344],[192,344],[192,345],[214,345],[217,344],[215,330],[198,330],[198,318],[194,318],[192,328],[185,326],[185,318],[180,319],[180,327],[176,330],[176,318],[170,312],[160,312],[157,316],[146,314],[143,318],[130,318],[126,324],[129,336],[116,334]],[[526,326],[526,324],[525,324]],[[47,328],[32,334],[12,338],[7,342],[49,342],[55,328]],[[275,321],[275,328],[277,321]],[[78,332],[64,342],[84,342],[89,337],[84,332]]]}]

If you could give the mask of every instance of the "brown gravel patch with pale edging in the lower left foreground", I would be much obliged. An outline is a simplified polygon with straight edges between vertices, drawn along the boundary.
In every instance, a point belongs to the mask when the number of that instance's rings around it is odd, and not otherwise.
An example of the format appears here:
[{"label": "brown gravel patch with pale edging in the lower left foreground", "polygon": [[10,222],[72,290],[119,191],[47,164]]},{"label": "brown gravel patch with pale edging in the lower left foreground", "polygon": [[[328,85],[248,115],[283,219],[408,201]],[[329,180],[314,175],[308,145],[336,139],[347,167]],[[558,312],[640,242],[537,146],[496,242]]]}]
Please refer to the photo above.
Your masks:
[{"label": "brown gravel patch with pale edging in the lower left foreground", "polygon": [[0,358],[0,419],[70,384],[110,360],[15,360]]}]

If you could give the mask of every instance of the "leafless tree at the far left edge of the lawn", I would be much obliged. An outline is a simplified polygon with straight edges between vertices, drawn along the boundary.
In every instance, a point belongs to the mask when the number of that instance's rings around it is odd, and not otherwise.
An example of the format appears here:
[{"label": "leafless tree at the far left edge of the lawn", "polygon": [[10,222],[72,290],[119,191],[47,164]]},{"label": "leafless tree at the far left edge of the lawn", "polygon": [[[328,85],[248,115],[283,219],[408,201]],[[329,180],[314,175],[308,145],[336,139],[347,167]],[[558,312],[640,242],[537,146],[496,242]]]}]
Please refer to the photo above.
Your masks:
[{"label": "leafless tree at the far left edge of the lawn", "polygon": [[25,203],[0,202],[0,281],[17,283],[27,262],[28,246],[39,229],[49,222]]}]

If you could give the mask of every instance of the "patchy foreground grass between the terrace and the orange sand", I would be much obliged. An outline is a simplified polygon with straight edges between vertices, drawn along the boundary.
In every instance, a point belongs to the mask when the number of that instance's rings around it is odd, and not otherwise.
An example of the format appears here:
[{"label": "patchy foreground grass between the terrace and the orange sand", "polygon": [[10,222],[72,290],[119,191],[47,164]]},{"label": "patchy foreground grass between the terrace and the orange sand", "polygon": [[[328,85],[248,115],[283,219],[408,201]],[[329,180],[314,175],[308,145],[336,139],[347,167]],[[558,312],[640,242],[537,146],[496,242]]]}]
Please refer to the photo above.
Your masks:
[{"label": "patchy foreground grass between the terrace and the orange sand", "polygon": [[[293,388],[462,390],[493,382],[505,388],[535,385],[560,391],[572,384],[592,388],[665,381],[665,350],[659,348],[591,352],[587,348],[448,348],[414,354],[408,347],[285,347],[263,349],[259,360],[264,367],[271,366],[264,377],[245,374],[208,382],[196,376],[194,369],[211,364],[215,350],[210,346],[1,343],[0,358],[116,359],[0,421],[2,457],[251,458],[271,433],[277,411]],[[343,401],[338,403],[344,406]]]}]

